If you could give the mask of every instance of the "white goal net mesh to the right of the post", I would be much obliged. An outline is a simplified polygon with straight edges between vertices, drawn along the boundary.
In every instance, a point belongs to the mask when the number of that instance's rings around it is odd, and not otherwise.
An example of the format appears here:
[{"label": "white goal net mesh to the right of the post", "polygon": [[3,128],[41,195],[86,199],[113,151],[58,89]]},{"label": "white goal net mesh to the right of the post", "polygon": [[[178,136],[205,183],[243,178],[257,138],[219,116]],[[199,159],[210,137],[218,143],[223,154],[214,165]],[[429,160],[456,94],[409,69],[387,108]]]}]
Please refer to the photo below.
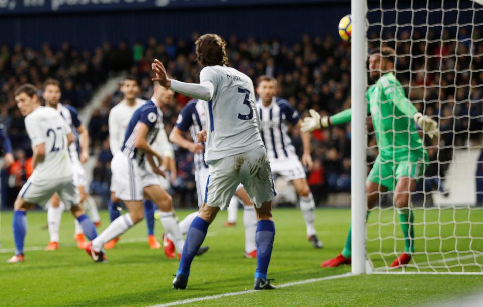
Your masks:
[{"label": "white goal net mesh to the right of the post", "polygon": [[[428,163],[421,176],[413,172],[419,179],[410,193],[413,222],[397,211],[395,194],[379,184],[381,197],[367,222],[373,272],[483,273],[483,7],[469,0],[368,1],[367,24],[369,49],[395,49],[395,77],[414,106],[440,127],[438,138],[423,136]],[[374,162],[379,151],[371,126],[368,169],[381,168]],[[393,187],[406,174],[399,160],[389,161]],[[410,263],[390,268],[405,251]]]}]

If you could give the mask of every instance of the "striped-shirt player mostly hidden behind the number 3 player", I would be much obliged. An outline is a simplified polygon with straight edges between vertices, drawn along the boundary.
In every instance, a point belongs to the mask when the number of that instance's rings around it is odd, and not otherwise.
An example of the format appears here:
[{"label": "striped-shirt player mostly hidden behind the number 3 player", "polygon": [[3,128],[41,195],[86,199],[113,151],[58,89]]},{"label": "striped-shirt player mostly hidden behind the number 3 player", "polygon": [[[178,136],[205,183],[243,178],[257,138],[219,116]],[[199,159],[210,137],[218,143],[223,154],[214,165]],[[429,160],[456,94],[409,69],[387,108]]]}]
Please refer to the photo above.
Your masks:
[{"label": "striped-shirt player mostly hidden behind the number 3 player", "polygon": [[[196,134],[203,129],[206,129],[207,117],[203,107],[206,101],[194,99],[189,101],[188,104],[181,110],[178,115],[178,120],[176,125],[171,130],[170,141],[177,144],[180,147],[188,149],[190,152],[194,153],[194,164],[195,164],[195,181],[196,181],[196,191],[198,193],[198,207],[203,205],[203,199],[205,199],[205,189],[210,170],[208,165],[205,163],[203,157],[204,154],[204,144],[197,143]],[[191,134],[192,141],[185,139],[183,133],[189,131]],[[255,244],[255,231],[257,229],[257,216],[255,209],[253,208],[253,203],[247,195],[247,192],[240,184],[235,195],[239,197],[240,201],[244,203],[243,211],[243,224],[245,226],[245,252],[244,256],[246,258],[256,258],[257,257],[257,246]],[[230,205],[233,202],[237,204],[238,198],[232,197],[230,200]],[[228,208],[229,208],[228,206]],[[188,230],[189,225],[198,215],[194,212],[188,215],[183,221],[181,221],[180,229],[183,231]]]}]

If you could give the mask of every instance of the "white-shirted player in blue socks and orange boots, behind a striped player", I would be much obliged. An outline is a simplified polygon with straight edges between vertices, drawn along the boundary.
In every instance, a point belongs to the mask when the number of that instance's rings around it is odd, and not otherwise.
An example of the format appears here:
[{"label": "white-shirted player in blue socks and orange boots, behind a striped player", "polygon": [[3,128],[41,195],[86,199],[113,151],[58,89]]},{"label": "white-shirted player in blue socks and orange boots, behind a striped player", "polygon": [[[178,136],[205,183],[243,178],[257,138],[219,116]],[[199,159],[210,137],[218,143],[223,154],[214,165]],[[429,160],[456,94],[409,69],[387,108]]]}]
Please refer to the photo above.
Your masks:
[{"label": "white-shirted player in blue socks and orange boots, behind a striped player", "polygon": [[[109,145],[111,147],[112,155],[121,150],[124,142],[124,134],[127,125],[131,120],[134,111],[146,103],[146,100],[137,98],[139,94],[139,86],[135,76],[127,76],[122,81],[120,91],[123,94],[121,100],[116,106],[111,109],[109,113]],[[112,164],[111,164],[112,166]],[[121,215],[121,201],[116,197],[114,191],[116,190],[115,182],[111,180],[111,200],[109,201],[109,217],[111,222]],[[161,244],[154,236],[154,210],[155,204],[151,200],[144,200],[144,215],[147,224],[147,242],[152,249],[161,248]],[[106,243],[105,249],[114,248],[119,238],[114,238]]]}]

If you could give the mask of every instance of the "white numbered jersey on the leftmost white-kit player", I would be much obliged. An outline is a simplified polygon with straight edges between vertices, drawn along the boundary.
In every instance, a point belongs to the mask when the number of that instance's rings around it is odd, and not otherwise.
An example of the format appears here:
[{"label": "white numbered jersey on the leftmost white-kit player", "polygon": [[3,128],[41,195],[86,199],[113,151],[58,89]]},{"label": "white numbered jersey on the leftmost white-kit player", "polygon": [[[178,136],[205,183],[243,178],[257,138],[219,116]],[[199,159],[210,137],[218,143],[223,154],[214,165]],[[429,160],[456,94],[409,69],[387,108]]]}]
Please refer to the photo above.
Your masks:
[{"label": "white numbered jersey on the leftmost white-kit player", "polygon": [[38,107],[25,117],[25,129],[32,147],[45,144],[45,157],[32,173],[32,182],[72,179],[67,134],[72,132],[60,114],[50,107]]}]

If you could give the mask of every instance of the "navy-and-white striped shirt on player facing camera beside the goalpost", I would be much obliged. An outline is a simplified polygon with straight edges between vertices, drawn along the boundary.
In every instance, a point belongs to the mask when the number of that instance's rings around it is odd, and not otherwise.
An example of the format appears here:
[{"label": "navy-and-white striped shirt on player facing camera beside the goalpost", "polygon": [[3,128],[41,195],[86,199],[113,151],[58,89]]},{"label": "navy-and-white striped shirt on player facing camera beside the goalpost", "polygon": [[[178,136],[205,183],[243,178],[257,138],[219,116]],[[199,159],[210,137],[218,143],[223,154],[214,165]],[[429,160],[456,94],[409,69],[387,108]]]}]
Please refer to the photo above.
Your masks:
[{"label": "navy-and-white striped shirt on player facing camera beside the goalpost", "polygon": [[292,140],[287,133],[287,122],[293,125],[300,120],[298,112],[290,106],[287,100],[273,97],[272,103],[265,107],[262,101],[257,101],[260,116],[262,140],[267,149],[268,158],[287,159],[297,157]]}]

